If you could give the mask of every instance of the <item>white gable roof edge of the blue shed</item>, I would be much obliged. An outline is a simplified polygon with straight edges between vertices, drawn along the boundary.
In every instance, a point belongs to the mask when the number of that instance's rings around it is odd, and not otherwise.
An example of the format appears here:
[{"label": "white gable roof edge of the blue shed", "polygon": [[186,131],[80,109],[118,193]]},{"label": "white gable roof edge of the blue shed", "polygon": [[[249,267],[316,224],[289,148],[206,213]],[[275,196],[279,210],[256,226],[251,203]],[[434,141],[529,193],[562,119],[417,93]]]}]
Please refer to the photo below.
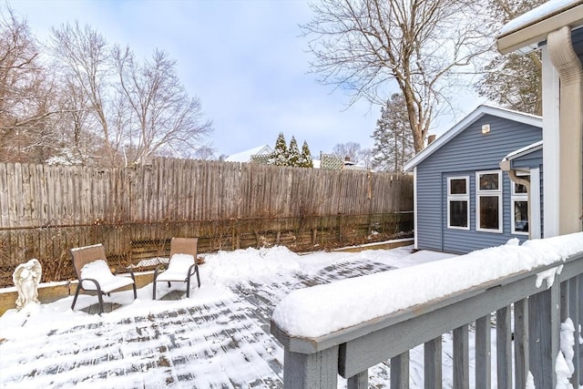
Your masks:
[{"label": "white gable roof edge of the blue shed", "polygon": [[478,118],[482,118],[485,115],[492,115],[497,118],[507,118],[509,120],[514,120],[519,123],[524,123],[538,128],[543,127],[543,120],[537,115],[526,114],[524,112],[518,112],[502,107],[481,105],[476,107],[476,109],[474,109],[469,115],[459,121],[453,128],[448,129],[445,134],[437,138],[435,142],[417,153],[413,159],[410,159],[407,163],[405,163],[404,170],[411,170],[415,166],[419,165],[422,161],[424,161],[424,159],[427,159],[429,156],[435,153],[435,151],[449,142],[450,139],[455,138],[460,132],[474,123]]}]

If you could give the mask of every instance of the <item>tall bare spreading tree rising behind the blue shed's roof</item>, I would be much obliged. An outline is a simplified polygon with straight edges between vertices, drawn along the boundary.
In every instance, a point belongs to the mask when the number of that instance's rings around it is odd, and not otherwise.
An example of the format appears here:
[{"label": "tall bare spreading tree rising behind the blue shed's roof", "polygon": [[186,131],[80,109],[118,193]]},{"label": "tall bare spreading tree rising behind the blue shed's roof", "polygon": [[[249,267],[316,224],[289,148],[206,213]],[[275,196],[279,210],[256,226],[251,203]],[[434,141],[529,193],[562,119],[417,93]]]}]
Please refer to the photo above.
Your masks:
[{"label": "tall bare spreading tree rising behind the blue shed's roof", "polygon": [[389,89],[404,96],[416,152],[447,104],[456,69],[486,50],[473,0],[322,0],[302,26],[311,36],[312,70],[321,82],[384,104]]}]

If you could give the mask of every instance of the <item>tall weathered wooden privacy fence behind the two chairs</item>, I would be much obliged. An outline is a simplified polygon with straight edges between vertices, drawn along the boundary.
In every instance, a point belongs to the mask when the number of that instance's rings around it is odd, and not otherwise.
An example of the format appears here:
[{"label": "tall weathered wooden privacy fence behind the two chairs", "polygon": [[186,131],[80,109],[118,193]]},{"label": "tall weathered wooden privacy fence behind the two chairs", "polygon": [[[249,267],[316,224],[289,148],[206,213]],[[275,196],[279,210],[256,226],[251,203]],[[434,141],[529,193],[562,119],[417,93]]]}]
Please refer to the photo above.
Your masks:
[{"label": "tall weathered wooden privacy fence behind the two chairs", "polygon": [[[103,242],[119,262],[164,254],[172,236],[201,252],[351,241],[412,230],[413,180],[357,170],[155,159],[131,169],[0,163],[0,263],[68,263]],[[67,269],[68,271],[68,269]]]}]

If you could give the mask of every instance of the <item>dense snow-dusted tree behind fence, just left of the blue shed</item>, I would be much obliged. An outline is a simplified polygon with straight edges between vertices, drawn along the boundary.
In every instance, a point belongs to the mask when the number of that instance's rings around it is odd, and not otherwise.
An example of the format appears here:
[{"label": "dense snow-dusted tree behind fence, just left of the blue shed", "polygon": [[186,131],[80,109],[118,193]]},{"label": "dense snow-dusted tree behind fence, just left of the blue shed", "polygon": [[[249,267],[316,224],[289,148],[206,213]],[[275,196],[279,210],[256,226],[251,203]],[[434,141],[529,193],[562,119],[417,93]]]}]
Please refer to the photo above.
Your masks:
[{"label": "dense snow-dusted tree behind fence, just left of the blue shed", "polygon": [[395,93],[381,107],[381,118],[373,132],[373,168],[403,172],[404,163],[414,156],[414,142],[408,130],[407,111],[403,95]]}]

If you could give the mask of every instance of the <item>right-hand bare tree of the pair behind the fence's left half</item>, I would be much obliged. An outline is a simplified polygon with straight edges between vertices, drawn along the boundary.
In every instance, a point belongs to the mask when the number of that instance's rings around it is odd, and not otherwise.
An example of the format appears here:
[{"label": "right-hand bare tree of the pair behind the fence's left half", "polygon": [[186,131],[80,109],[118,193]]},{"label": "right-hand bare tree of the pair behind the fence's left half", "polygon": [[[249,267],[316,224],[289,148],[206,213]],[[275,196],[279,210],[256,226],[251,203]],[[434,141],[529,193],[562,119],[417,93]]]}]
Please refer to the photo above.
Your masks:
[{"label": "right-hand bare tree of the pair behind the fence's left half", "polygon": [[124,138],[128,163],[156,153],[193,156],[211,131],[196,97],[179,81],[176,61],[155,50],[151,62],[138,64],[128,48],[114,50],[120,97],[125,107]]}]

